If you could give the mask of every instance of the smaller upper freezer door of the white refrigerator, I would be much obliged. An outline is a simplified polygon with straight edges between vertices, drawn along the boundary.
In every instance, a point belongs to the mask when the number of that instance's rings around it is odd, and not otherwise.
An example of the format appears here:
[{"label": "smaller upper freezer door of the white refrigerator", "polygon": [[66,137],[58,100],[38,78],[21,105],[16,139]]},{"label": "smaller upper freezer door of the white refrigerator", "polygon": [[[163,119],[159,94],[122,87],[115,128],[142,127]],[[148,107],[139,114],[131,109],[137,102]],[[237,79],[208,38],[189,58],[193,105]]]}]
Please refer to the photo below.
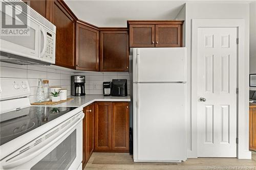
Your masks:
[{"label": "smaller upper freezer door of the white refrigerator", "polygon": [[134,82],[185,82],[186,48],[134,48]]}]

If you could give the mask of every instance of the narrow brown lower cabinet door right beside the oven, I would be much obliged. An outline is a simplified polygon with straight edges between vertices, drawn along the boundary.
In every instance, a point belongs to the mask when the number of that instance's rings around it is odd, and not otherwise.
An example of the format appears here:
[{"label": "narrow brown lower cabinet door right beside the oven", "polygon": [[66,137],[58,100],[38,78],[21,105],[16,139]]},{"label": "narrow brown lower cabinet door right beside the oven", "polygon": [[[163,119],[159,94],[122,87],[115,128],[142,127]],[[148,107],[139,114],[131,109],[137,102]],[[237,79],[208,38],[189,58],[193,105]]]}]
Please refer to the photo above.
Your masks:
[{"label": "narrow brown lower cabinet door right beside the oven", "polygon": [[89,161],[94,149],[94,103],[87,107],[87,154],[86,162]]}]

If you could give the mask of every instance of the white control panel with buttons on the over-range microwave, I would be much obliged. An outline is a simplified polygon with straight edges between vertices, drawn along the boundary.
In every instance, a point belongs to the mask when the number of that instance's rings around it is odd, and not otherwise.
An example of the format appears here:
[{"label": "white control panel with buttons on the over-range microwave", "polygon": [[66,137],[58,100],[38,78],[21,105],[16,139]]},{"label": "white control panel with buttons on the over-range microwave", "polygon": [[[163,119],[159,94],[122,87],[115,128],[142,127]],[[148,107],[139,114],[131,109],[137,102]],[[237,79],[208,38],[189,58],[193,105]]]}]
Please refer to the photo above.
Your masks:
[{"label": "white control panel with buttons on the over-range microwave", "polygon": [[46,35],[46,53],[45,60],[55,63],[55,35],[48,33]]}]

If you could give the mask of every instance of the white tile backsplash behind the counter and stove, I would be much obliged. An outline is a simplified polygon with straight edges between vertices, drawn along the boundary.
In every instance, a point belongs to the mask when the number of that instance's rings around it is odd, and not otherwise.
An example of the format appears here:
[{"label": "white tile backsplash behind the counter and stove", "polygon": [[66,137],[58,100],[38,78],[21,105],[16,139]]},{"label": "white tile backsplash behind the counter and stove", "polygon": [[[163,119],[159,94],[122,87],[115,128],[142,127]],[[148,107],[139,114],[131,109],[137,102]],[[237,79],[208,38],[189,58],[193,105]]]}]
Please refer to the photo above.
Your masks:
[{"label": "white tile backsplash behind the counter and stove", "polygon": [[127,79],[128,94],[130,94],[130,76],[128,72],[72,72],[72,70],[52,69],[49,66],[17,65],[0,62],[0,77],[27,79],[31,87],[30,102],[35,102],[38,79],[49,80],[50,86],[67,88],[70,95],[71,76],[86,76],[86,94],[103,94],[103,81],[112,79]]}]

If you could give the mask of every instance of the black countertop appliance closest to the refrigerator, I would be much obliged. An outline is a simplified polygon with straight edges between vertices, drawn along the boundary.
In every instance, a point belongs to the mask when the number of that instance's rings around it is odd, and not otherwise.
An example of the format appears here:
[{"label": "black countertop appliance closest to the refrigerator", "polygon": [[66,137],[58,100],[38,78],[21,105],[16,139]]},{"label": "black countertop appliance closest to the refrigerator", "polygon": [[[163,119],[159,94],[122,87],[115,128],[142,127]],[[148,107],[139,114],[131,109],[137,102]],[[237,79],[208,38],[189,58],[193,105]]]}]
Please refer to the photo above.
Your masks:
[{"label": "black countertop appliance closest to the refrigerator", "polygon": [[126,79],[112,79],[112,96],[127,96],[127,80]]}]

